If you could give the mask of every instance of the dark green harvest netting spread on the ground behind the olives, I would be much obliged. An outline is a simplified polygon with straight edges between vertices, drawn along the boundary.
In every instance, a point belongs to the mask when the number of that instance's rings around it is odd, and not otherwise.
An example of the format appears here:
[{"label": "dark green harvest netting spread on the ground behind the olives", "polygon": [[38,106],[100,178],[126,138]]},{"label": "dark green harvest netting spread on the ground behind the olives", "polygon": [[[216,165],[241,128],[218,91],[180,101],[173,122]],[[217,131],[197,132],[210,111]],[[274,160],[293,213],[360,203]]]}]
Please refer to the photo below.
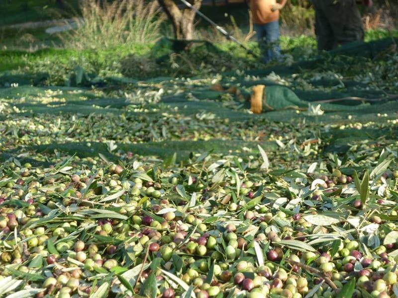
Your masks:
[{"label": "dark green harvest netting spread on the ground behind the olives", "polygon": [[[324,124],[345,124],[352,122],[366,123],[369,121],[378,121],[378,114],[387,114],[387,119],[397,119],[398,102],[397,98],[385,97],[385,91],[382,89],[372,88],[372,86],[364,83],[360,79],[350,78],[340,80],[337,78],[318,78],[312,80],[311,84],[315,88],[305,88],[305,86],[290,82],[289,86],[279,84],[278,80],[271,79],[269,74],[284,75],[297,74],[298,77],[302,70],[319,69],[323,67],[325,60],[333,62],[336,55],[362,55],[367,57],[375,57],[378,52],[388,48],[393,44],[391,39],[373,42],[369,44],[352,44],[347,47],[338,49],[334,52],[322,57],[314,57],[310,61],[298,62],[290,67],[274,66],[263,70],[242,72],[240,74],[222,74],[218,80],[223,86],[235,85],[239,91],[248,97],[251,93],[253,85],[265,84],[266,87],[266,103],[274,110],[254,115],[249,112],[249,102],[243,102],[235,95],[228,95],[224,91],[214,91],[211,89],[210,80],[206,83],[189,83],[186,80],[172,79],[170,77],[152,78],[140,84],[129,78],[107,78],[112,85],[123,85],[128,83],[135,87],[135,90],[142,89],[142,85],[152,86],[154,84],[161,85],[166,91],[165,96],[160,102],[147,104],[147,111],[135,111],[128,107],[129,102],[126,98],[102,97],[88,88],[71,88],[71,87],[39,87],[31,86],[27,81],[21,80],[18,87],[0,88],[0,99],[16,106],[23,112],[17,116],[29,116],[35,114],[78,114],[90,115],[92,113],[125,114],[134,117],[135,115],[148,117],[148,121],[152,118],[160,117],[162,113],[182,114],[192,118],[201,117],[206,114],[207,119],[228,119],[230,125],[236,122],[244,122],[246,120],[259,120],[260,125],[264,125],[264,130],[268,129],[267,124],[263,120],[275,122],[294,122],[306,121]],[[348,66],[347,66],[348,67]],[[0,75],[0,80],[4,74]],[[11,77],[6,77],[12,81]],[[219,77],[218,77],[219,78]],[[15,82],[15,81],[14,81]],[[341,84],[341,87],[336,87]],[[179,92],[174,92],[178,90]],[[226,96],[228,95],[228,96]],[[364,99],[378,100],[366,102],[357,100],[342,100],[336,103],[320,103],[323,115],[313,115],[307,113],[305,109],[310,103],[316,106],[319,100],[340,99],[346,97],[361,97]],[[156,108],[156,110],[154,110]],[[299,109],[298,109],[299,108]],[[198,116],[199,115],[199,116]],[[0,115],[4,118],[5,115]],[[151,118],[152,117],[152,118]],[[205,118],[206,118],[205,117]],[[115,118],[116,119],[116,118]],[[377,140],[380,136],[384,136],[389,140],[396,140],[397,132],[391,131],[372,131],[369,129],[361,130],[334,130],[330,132],[332,138],[330,144],[325,148],[327,152],[345,152],[349,148],[350,142],[361,142],[363,140]],[[227,136],[226,136],[227,138]],[[328,136],[323,136],[328,139]],[[235,150],[242,151],[247,147],[257,151],[257,145],[261,145],[268,152],[280,150],[275,142],[245,142],[239,139],[228,138],[226,140],[209,140],[209,141],[165,141],[150,142],[142,144],[117,144],[118,149],[123,151],[133,151],[142,155],[156,155],[161,158],[167,158],[177,153],[178,160],[186,159],[191,152],[219,152],[227,153]],[[16,156],[19,152],[31,150],[37,152],[54,152],[54,150],[65,152],[68,154],[77,153],[79,156],[93,156],[102,153],[109,159],[115,159],[115,155],[107,150],[107,146],[103,143],[92,142],[90,147],[86,142],[82,143],[53,143],[50,145],[42,145],[28,148],[15,148],[13,150],[2,152],[0,158],[6,159],[10,156]],[[246,154],[246,153],[241,153]],[[31,163],[43,163],[43,161],[28,159]]]}]

